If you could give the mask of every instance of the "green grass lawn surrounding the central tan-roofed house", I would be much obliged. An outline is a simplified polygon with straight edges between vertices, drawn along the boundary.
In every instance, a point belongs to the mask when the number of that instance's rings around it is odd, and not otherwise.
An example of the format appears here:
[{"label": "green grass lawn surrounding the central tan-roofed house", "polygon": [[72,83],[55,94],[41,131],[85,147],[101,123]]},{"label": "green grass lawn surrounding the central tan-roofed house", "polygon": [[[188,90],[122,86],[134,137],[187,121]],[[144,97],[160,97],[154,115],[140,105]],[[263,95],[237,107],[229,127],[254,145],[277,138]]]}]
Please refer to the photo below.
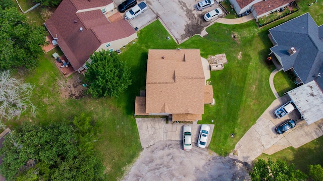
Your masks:
[{"label": "green grass lawn surrounding the central tan-roofed house", "polygon": [[[71,120],[84,112],[101,124],[101,139],[96,142],[96,149],[102,155],[109,180],[117,180],[141,151],[133,114],[135,96],[139,96],[140,90],[145,89],[148,49],[199,48],[201,56],[205,58],[219,53],[226,53],[228,58],[224,70],[211,72],[209,81],[213,85],[216,104],[205,105],[202,120],[199,122],[199,124],[214,124],[209,149],[220,155],[227,155],[275,99],[268,84],[270,73],[275,69],[266,61],[270,53],[269,48],[273,46],[267,37],[268,29],[307,11],[310,11],[318,25],[323,24],[322,2],[311,7],[306,5],[308,2],[306,0],[298,2],[301,7],[298,12],[261,28],[257,28],[254,21],[240,25],[216,23],[206,29],[208,35],[204,38],[194,36],[180,45],[177,45],[172,38],[166,39],[170,35],[159,21],[151,23],[137,32],[138,39],[134,43],[121,48],[123,51],[120,54],[121,59],[131,70],[132,85],[118,98],[94,99],[89,96],[78,100],[61,98],[62,83],[70,78],[64,78],[53,64],[51,54],[57,50],[52,50],[39,58],[39,68],[16,74],[35,85],[31,101],[38,108],[37,117],[33,118],[25,113],[21,119],[12,121],[9,125],[15,127],[24,120],[42,124]],[[31,23],[41,25],[44,20],[41,19],[39,11],[34,13],[30,18]],[[233,39],[232,35],[235,35],[236,39]],[[285,80],[281,80],[279,76]],[[285,73],[278,73],[274,81],[276,89],[280,92],[290,90],[294,86],[286,81]],[[230,137],[231,133],[235,134],[234,138]],[[321,141],[316,141],[310,144],[322,145]],[[301,153],[304,157],[308,155],[306,158],[309,160],[320,155],[309,151],[310,149],[306,147],[301,149],[304,150]],[[282,152],[282,155],[298,152],[290,150],[291,153]],[[313,157],[310,157],[310,154],[314,154]]]}]

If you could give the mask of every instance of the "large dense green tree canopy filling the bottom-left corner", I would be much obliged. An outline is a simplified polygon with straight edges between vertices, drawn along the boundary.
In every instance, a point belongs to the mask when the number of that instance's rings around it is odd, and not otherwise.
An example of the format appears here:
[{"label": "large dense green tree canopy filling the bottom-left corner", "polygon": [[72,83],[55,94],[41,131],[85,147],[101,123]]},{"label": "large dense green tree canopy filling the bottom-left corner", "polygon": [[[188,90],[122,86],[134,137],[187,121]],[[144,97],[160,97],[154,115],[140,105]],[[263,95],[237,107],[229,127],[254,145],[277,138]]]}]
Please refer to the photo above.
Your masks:
[{"label": "large dense green tree canopy filling the bottom-left corner", "polygon": [[70,124],[24,122],[5,137],[1,174],[9,180],[102,180],[105,168],[93,150],[97,130],[84,114]]}]

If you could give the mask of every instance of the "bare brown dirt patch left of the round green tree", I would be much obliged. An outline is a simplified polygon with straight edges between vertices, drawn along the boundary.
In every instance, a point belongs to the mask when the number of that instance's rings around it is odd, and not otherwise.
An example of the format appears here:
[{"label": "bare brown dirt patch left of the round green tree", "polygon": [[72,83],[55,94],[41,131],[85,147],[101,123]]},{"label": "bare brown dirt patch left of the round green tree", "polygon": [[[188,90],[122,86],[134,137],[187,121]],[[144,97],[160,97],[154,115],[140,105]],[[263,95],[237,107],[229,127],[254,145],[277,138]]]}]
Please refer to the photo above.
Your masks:
[{"label": "bare brown dirt patch left of the round green tree", "polygon": [[87,88],[82,85],[80,76],[82,75],[74,74],[72,78],[60,81],[59,84],[61,85],[61,98],[79,99],[83,97],[84,91]]}]

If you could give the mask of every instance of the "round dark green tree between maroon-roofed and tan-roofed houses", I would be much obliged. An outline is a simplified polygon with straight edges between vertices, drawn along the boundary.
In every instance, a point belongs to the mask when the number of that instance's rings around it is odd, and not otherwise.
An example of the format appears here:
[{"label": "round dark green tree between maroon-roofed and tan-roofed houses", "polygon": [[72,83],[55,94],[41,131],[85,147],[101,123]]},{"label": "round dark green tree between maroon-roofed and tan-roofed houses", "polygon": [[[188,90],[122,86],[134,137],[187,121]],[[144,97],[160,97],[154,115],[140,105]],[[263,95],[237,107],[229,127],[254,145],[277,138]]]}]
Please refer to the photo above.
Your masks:
[{"label": "round dark green tree between maroon-roofed and tan-roofed houses", "polygon": [[87,92],[93,97],[118,96],[131,85],[129,68],[118,53],[102,50],[90,58],[92,62],[87,64],[85,78],[89,82]]}]

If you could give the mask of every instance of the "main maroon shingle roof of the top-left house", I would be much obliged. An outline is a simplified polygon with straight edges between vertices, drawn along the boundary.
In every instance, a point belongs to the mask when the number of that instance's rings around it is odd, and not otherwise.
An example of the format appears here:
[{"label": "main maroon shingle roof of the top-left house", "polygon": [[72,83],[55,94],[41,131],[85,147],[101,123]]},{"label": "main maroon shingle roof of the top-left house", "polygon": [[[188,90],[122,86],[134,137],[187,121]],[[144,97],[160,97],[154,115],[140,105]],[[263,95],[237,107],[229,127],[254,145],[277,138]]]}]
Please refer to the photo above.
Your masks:
[{"label": "main maroon shingle roof of the top-left house", "polygon": [[129,22],[123,19],[110,23],[100,10],[76,14],[77,9],[72,2],[81,1],[63,0],[45,25],[50,34],[58,38],[58,45],[75,71],[85,64],[90,54],[102,43],[126,38],[136,32]]}]

